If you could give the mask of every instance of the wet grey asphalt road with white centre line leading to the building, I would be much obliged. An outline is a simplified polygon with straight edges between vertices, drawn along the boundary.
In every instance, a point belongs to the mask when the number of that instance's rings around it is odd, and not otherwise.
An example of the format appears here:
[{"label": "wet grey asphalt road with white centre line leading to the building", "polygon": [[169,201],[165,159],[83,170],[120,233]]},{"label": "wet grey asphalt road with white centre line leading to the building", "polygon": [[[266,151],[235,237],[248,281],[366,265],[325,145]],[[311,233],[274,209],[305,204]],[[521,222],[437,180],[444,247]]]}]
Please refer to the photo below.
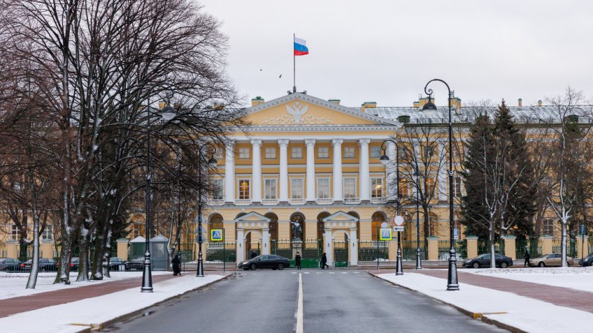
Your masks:
[{"label": "wet grey asphalt road with white centre line leading to the building", "polygon": [[506,332],[352,269],[238,272],[107,332],[294,332],[299,273],[304,332]]}]

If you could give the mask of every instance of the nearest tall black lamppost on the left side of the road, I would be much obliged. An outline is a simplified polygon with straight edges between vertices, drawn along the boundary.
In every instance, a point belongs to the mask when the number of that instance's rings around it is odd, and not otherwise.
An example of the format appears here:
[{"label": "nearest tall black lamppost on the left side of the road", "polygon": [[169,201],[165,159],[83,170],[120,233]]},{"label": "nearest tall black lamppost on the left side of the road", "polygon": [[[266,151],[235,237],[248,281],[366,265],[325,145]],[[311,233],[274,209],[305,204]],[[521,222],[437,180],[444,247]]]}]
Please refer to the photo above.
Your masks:
[{"label": "nearest tall black lamppost on the left side of the road", "polygon": [[[150,98],[150,94],[152,94],[152,89],[149,92],[148,96]],[[152,293],[152,267],[150,265],[150,187],[151,184],[151,173],[152,167],[150,165],[150,118],[152,116],[152,112],[150,111],[150,99],[148,100],[148,124],[146,126],[146,141],[147,141],[147,152],[146,152],[146,224],[145,224],[145,252],[144,252],[144,265],[142,271],[142,288],[140,289],[141,293]],[[162,111],[159,117],[162,117],[165,121],[169,121],[173,119],[177,114],[177,111],[172,108],[171,106],[167,105]]]}]

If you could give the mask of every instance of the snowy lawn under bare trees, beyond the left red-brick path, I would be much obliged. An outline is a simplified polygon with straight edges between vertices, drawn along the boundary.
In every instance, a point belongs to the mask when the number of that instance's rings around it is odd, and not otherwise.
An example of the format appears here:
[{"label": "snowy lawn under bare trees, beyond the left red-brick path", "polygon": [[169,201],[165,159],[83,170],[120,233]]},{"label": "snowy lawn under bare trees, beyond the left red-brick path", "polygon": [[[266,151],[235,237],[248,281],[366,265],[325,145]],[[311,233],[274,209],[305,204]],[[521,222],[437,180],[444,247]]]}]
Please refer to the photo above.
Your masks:
[{"label": "snowy lawn under bare trees, beyond the left red-brick path", "polygon": [[[152,275],[157,274],[171,274],[171,272],[152,272]],[[137,278],[138,276],[142,276],[142,272],[111,272],[111,278],[105,278],[103,280],[88,282],[76,282],[76,276],[78,276],[78,273],[73,272],[70,274],[71,283],[69,286],[66,286],[64,284],[53,284],[55,276],[55,272],[39,273],[39,275],[37,276],[37,285],[35,289],[25,289],[24,287],[27,286],[27,279],[29,279],[29,273],[0,272],[0,299],[32,295],[52,290],[91,286],[97,283],[104,283],[109,281],[119,281],[129,278]]]}]

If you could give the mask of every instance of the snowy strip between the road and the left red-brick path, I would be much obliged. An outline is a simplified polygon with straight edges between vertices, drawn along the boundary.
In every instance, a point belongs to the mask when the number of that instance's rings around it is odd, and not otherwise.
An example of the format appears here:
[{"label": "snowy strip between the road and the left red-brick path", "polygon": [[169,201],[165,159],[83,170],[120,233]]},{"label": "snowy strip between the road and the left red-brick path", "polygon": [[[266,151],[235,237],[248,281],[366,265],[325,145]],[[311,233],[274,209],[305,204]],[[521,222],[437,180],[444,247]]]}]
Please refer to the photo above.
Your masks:
[{"label": "snowy strip between the road and the left red-brick path", "polygon": [[0,327],[2,332],[80,332],[85,328],[88,330],[92,324],[98,325],[133,313],[223,277],[206,275],[203,278],[197,278],[189,274],[155,283],[154,293],[140,293],[140,288],[131,288],[78,302],[17,313],[0,318]]}]

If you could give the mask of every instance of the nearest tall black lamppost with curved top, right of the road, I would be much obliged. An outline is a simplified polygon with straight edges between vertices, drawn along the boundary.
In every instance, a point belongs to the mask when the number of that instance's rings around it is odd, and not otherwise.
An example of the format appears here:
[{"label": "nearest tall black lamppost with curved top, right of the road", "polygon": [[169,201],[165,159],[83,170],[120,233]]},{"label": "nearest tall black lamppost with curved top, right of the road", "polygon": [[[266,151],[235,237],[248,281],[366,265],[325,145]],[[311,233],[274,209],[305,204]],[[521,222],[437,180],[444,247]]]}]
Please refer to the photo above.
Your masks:
[{"label": "nearest tall black lamppost with curved top, right of the road", "polygon": [[424,104],[422,110],[436,110],[436,105],[432,103],[431,96],[432,96],[432,89],[428,88],[428,85],[433,82],[438,81],[445,84],[447,90],[449,91],[448,96],[448,106],[449,106],[449,228],[450,228],[450,248],[449,248],[449,270],[447,275],[447,290],[459,290],[459,283],[457,282],[457,259],[455,258],[455,242],[454,242],[454,232],[453,232],[453,158],[452,158],[452,151],[453,151],[453,129],[451,125],[451,89],[449,88],[449,84],[441,79],[432,79],[430,80],[426,86],[424,86],[424,93],[428,95],[428,103]]}]

